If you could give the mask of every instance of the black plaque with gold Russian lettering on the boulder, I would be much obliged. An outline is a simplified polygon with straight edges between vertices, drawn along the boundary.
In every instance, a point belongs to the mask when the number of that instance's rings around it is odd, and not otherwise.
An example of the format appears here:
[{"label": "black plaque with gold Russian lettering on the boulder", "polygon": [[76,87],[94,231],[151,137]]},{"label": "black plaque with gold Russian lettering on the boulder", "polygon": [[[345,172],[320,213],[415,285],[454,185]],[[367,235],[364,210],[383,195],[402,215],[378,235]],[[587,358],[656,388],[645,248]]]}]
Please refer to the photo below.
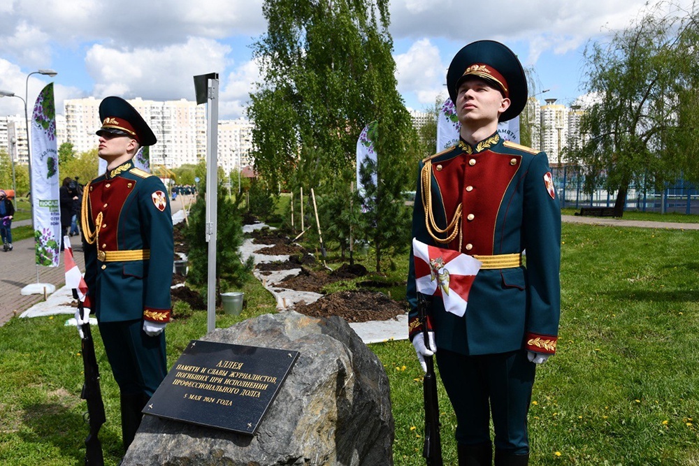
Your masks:
[{"label": "black plaque with gold Russian lettering on the boulder", "polygon": [[143,409],[254,435],[298,351],[192,340]]}]

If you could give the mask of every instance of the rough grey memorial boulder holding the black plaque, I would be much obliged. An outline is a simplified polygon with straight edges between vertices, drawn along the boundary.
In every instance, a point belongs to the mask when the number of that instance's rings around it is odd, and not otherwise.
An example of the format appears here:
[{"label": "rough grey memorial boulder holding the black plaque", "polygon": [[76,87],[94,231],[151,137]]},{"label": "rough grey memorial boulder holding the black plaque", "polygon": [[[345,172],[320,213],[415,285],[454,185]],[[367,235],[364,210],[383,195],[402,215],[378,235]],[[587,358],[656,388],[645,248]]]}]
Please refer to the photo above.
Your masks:
[{"label": "rough grey memorial boulder holding the black plaque", "polygon": [[393,465],[388,377],[343,319],[264,314],[201,340],[298,360],[254,435],[144,416],[124,465]]}]

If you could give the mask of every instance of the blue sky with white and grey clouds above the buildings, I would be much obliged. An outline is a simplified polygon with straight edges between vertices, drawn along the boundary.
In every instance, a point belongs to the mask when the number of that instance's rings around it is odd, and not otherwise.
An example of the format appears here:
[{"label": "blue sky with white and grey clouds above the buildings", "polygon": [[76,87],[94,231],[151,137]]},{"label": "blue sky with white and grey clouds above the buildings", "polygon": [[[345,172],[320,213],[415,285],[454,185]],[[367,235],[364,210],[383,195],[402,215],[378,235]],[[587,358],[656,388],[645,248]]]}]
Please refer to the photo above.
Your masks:
[{"label": "blue sky with white and grey clouds above the buildings", "polygon": [[[690,5],[692,0],[679,0]],[[24,97],[27,75],[52,68],[57,112],[64,99],[119,95],[194,100],[192,76],[218,72],[221,119],[245,115],[258,78],[250,44],[266,32],[262,0],[0,1],[0,89]],[[463,45],[506,43],[533,66],[540,98],[572,103],[583,93],[582,50],[630,24],[644,0],[394,0],[391,25],[398,91],[424,110],[446,96],[446,68]],[[29,105],[48,77],[31,75]],[[0,99],[0,115],[24,112]]]}]

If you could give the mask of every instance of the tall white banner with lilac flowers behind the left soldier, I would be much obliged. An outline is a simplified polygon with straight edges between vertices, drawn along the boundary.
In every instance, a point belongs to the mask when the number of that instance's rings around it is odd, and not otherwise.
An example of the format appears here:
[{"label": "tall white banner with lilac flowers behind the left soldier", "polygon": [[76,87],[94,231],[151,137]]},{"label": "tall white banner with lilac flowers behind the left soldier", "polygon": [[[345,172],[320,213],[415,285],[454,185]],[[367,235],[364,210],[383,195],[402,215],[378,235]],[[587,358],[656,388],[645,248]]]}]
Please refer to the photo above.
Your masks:
[{"label": "tall white banner with lilac flowers behind the left soldier", "polygon": [[56,105],[53,83],[41,90],[31,115],[31,203],[36,264],[58,267],[61,209],[58,194]]}]

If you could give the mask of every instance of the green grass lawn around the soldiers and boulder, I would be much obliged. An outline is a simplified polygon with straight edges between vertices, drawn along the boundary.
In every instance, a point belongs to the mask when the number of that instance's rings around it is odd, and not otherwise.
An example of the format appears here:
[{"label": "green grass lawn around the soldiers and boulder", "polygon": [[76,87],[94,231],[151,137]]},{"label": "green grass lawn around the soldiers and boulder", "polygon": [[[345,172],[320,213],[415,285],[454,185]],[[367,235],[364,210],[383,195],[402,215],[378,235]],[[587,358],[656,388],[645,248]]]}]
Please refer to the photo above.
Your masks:
[{"label": "green grass lawn around the soldiers and boulder", "polygon": [[[531,464],[699,465],[699,231],[564,224],[562,241],[559,351],[538,369]],[[407,258],[395,263],[383,279],[405,279]],[[243,314],[219,315],[218,327],[273,311],[259,283],[245,292]],[[400,299],[405,291],[396,286],[391,293]],[[68,317],[15,318],[0,327],[2,465],[82,464],[82,360],[75,328],[63,325]],[[189,340],[206,333],[206,314],[192,312],[167,332],[172,364]],[[94,333],[108,418],[100,437],[106,464],[116,465],[119,395]],[[424,465],[415,351],[407,340],[370,349],[391,384],[394,462]],[[439,388],[445,464],[454,465],[455,421]]]}]

